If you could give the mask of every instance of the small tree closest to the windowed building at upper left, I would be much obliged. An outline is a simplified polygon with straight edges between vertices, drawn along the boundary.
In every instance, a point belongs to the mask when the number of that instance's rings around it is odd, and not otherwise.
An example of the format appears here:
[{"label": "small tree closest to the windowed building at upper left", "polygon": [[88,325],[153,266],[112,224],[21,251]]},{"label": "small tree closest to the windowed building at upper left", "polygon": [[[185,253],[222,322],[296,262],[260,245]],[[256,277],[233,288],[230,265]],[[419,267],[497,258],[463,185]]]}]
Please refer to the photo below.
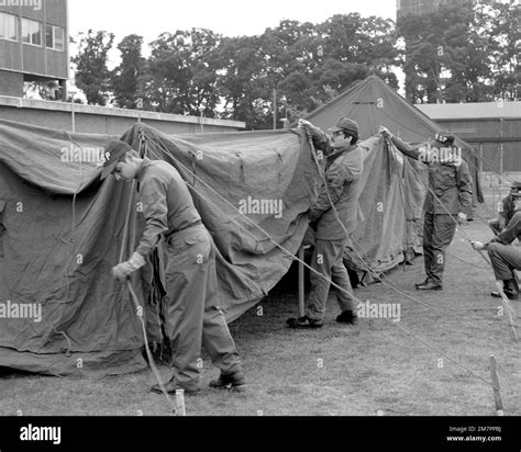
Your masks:
[{"label": "small tree closest to the windowed building at upper left", "polygon": [[80,36],[78,55],[71,58],[77,67],[76,86],[84,91],[89,104],[106,105],[110,89],[107,61],[114,35],[104,31],[89,30],[86,36],[82,34]]}]

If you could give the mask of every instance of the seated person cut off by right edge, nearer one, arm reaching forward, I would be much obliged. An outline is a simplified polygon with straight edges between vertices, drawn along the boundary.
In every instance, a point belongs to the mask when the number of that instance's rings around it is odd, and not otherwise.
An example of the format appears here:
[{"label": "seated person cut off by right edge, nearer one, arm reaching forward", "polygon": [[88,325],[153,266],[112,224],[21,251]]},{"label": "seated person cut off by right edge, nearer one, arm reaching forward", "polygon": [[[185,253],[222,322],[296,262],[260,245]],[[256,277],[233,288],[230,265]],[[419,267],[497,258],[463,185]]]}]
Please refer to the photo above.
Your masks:
[{"label": "seated person cut off by right edge, nearer one, arm reaching forward", "polygon": [[[488,244],[473,241],[474,249],[488,252],[496,280],[503,284],[503,292],[510,300],[518,300],[519,286],[516,270],[521,270],[521,251],[512,247],[513,240],[521,240],[521,212],[514,213],[507,228]],[[499,292],[492,292],[495,298],[501,298]]]}]

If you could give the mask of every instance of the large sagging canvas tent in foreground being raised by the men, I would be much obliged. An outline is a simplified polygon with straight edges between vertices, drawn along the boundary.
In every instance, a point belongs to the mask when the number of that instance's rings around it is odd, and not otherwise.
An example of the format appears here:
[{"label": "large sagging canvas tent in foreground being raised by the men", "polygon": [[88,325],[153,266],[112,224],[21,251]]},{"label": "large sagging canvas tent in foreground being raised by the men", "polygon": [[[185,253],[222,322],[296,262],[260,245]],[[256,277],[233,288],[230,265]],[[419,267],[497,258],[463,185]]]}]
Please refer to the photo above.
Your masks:
[{"label": "large sagging canvas tent in foreground being raised by the men", "polygon": [[[146,365],[141,320],[125,286],[111,275],[143,230],[136,190],[113,178],[101,183],[97,162],[85,161],[102,155],[111,139],[0,121],[0,366],[103,376]],[[136,124],[121,139],[168,161],[186,180],[215,242],[228,319],[262,301],[293,262],[322,182],[303,133],[176,137]],[[385,140],[375,136],[361,146],[369,237],[359,252],[369,267],[390,268],[408,244],[419,244],[418,230],[406,227],[403,206],[420,211],[424,185]],[[269,211],[269,201],[278,200],[284,212]],[[241,212],[244,205],[252,210]],[[389,234],[392,247],[377,246]],[[160,256],[132,281],[153,341],[160,340]],[[14,315],[36,305],[40,321]]]}]

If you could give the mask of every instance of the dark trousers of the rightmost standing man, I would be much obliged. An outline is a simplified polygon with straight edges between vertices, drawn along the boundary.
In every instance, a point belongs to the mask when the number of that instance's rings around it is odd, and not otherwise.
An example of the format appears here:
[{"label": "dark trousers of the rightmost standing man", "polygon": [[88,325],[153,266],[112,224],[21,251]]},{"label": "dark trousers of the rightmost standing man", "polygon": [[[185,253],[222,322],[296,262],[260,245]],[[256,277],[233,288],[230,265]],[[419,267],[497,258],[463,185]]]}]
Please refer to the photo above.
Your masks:
[{"label": "dark trousers of the rightmost standing man", "polygon": [[423,222],[423,258],[425,273],[434,284],[442,285],[445,270],[445,251],[456,233],[453,215],[425,214]]}]

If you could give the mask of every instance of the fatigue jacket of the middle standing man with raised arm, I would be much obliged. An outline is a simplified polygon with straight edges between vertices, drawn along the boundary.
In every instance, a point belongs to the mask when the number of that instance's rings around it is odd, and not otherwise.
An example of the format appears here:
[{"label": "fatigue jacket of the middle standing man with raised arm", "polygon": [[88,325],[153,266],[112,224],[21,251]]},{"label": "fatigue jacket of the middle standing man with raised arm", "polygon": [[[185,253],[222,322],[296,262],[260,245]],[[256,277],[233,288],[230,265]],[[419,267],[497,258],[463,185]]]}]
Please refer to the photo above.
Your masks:
[{"label": "fatigue jacket of the middle standing man with raised arm", "polygon": [[[310,219],[318,222],[319,240],[347,239],[346,230],[353,233],[356,223],[363,218],[358,197],[364,171],[364,150],[358,146],[333,149],[328,136],[317,127],[313,127],[311,136],[315,148],[322,150],[326,157],[326,184],[320,189],[319,197],[311,206]],[[331,203],[335,206],[341,223]]]}]

